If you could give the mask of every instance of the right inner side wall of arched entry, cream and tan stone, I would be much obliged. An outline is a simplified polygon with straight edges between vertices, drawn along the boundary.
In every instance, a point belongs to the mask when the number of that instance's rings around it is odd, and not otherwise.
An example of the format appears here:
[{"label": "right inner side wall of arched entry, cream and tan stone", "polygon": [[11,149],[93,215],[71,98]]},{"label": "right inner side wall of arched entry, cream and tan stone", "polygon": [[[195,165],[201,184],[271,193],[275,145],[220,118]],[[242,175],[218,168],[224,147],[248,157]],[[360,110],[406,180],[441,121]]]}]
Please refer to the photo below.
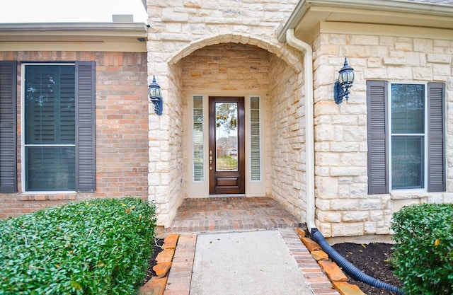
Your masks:
[{"label": "right inner side wall of arched entry, cream and tan stone", "polygon": [[[301,220],[306,216],[303,73],[271,58],[270,195]],[[301,121],[302,120],[302,121]]]}]

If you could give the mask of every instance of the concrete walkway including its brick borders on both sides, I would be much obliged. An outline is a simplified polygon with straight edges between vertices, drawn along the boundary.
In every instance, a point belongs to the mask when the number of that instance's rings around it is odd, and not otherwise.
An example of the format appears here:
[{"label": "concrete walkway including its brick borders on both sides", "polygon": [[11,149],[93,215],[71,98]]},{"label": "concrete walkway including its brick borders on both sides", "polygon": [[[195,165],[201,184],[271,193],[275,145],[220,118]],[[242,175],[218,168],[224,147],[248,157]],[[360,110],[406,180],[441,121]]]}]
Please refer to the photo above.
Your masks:
[{"label": "concrete walkway including its brick borders on both sides", "polygon": [[165,283],[164,295],[339,295],[294,229],[180,234]]}]

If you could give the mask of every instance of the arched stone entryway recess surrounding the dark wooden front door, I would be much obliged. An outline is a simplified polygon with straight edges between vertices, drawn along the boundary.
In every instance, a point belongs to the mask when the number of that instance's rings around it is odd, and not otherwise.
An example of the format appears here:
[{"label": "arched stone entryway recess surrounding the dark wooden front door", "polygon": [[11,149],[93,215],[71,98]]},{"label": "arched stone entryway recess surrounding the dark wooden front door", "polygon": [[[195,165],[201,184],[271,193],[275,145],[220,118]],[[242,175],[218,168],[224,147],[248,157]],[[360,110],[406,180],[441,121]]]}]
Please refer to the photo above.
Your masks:
[{"label": "arched stone entryway recess surrounding the dark wooden front door", "polygon": [[[226,34],[195,40],[166,59],[166,67],[164,64],[159,67],[167,73],[161,86],[164,109],[168,110],[155,119],[156,126],[164,130],[151,130],[153,118],[150,119],[150,134],[155,139],[166,138],[160,143],[151,141],[150,145],[156,150],[164,146],[168,150],[164,154],[168,161],[157,163],[161,155],[156,163],[150,163],[150,170],[160,178],[155,186],[150,181],[150,199],[159,208],[158,224],[169,226],[184,198],[209,197],[207,165],[202,168],[204,178],[194,180],[193,176],[194,99],[207,108],[209,96],[239,96],[246,100],[245,196],[273,197],[302,219],[306,211],[304,126],[301,124],[304,116],[302,54],[278,42]],[[258,179],[250,175],[250,102],[253,99],[258,99],[260,105]],[[207,120],[207,112],[204,114],[202,120]],[[203,143],[206,138],[207,135]],[[207,163],[207,149],[202,149],[202,153],[202,161]],[[150,171],[150,174],[153,173]]]}]

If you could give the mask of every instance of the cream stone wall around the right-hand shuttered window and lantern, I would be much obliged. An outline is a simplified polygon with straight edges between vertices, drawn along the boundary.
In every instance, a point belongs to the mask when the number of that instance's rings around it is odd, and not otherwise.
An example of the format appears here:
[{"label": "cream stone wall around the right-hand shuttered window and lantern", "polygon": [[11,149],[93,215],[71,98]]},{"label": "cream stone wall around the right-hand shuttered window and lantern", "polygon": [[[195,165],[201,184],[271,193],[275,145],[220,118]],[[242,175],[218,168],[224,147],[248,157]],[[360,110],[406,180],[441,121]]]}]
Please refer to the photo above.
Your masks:
[{"label": "cream stone wall around the right-hand shuttered window and lantern", "polygon": [[[357,28],[357,25],[355,26]],[[379,32],[380,30],[375,30]],[[453,41],[431,37],[321,33],[314,41],[316,224],[326,237],[391,233],[407,204],[453,202]],[[333,81],[348,57],[355,83],[348,102],[333,101]],[[447,192],[367,194],[366,81],[446,83]]]}]

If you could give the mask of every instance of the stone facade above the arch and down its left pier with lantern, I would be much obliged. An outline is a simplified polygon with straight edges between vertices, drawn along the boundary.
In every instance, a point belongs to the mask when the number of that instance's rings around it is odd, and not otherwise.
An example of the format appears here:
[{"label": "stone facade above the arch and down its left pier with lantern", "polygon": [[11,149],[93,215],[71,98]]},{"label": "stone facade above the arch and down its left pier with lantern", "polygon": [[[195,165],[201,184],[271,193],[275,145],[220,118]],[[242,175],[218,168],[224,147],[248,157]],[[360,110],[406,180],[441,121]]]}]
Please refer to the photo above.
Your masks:
[{"label": "stone facade above the arch and down its left pier with lantern", "polygon": [[[185,197],[183,88],[178,62],[200,48],[219,43],[255,45],[301,70],[299,54],[278,42],[275,29],[297,0],[148,0],[148,75],[164,97],[164,114],[149,110],[149,199],[158,207],[158,225],[170,226]],[[151,78],[149,78],[151,79]],[[148,81],[151,82],[151,81]]]}]

